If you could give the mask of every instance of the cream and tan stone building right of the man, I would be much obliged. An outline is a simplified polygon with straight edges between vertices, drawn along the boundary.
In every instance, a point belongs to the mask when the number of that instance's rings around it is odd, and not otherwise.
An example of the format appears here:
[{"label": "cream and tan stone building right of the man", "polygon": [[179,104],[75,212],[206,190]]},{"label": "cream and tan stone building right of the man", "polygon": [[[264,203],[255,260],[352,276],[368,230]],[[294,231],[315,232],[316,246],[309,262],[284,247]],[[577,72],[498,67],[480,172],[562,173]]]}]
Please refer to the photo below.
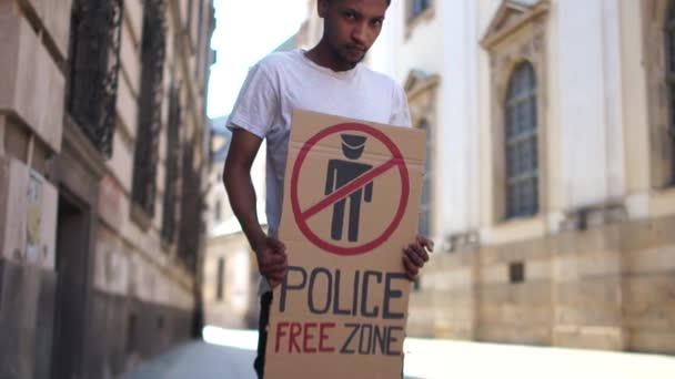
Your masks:
[{"label": "cream and tan stone building right of the man", "polygon": [[675,352],[675,2],[402,0],[437,253],[409,335]]}]

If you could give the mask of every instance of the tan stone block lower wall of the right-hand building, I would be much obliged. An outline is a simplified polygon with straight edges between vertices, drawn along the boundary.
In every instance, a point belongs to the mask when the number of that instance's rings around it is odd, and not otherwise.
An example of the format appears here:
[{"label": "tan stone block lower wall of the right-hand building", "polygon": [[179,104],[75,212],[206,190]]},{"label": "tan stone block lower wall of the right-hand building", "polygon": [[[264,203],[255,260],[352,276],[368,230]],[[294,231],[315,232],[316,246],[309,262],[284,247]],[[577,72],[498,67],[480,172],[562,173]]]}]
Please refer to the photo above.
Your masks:
[{"label": "tan stone block lower wall of the right-hand building", "polygon": [[[675,217],[604,219],[436,253],[413,293],[409,335],[675,352]],[[513,263],[523,283],[512,283]]]}]

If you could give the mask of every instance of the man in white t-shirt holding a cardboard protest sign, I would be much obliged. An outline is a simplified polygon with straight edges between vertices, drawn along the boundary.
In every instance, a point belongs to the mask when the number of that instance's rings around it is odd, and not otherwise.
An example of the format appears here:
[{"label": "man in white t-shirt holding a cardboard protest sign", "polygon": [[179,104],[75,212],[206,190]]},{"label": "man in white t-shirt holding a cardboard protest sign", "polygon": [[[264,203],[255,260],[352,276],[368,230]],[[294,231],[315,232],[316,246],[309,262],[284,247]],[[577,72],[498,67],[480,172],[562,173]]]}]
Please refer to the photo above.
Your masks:
[{"label": "man in white t-shirt holding a cardboard protest sign", "polygon": [[[319,0],[321,41],[310,51],[273,53],[249,72],[228,120],[232,141],[223,182],[242,229],[258,257],[260,337],[255,371],[262,378],[271,289],[281,284],[288,260],[276,231],[293,107],[376,123],[411,126],[404,91],[392,79],[359,64],[375,42],[391,0]],[[251,165],[263,140],[268,144],[266,213],[269,233],[259,224]],[[403,249],[413,280],[429,260],[433,243],[417,236]],[[292,254],[292,252],[291,252]]]}]

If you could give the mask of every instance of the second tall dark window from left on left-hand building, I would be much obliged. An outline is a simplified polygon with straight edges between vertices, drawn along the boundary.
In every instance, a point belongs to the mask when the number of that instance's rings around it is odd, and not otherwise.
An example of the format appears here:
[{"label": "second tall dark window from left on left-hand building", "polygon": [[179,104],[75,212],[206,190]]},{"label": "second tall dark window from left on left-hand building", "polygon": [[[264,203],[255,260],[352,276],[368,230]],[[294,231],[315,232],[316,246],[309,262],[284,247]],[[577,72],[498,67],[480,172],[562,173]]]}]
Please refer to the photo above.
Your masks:
[{"label": "second tall dark window from left on left-hand building", "polygon": [[164,1],[145,0],[141,45],[141,92],[133,166],[133,203],[154,215],[155,176],[161,130],[162,76],[164,71]]}]

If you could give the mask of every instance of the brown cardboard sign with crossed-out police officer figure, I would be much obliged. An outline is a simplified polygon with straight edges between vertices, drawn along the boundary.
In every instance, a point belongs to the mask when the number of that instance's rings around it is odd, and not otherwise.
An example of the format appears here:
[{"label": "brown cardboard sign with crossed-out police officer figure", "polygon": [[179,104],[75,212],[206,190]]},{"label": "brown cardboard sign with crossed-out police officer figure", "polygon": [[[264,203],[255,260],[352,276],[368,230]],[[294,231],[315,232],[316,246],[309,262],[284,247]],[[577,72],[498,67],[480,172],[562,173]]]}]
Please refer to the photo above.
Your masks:
[{"label": "brown cardboard sign with crossed-out police officer figure", "polygon": [[400,378],[424,132],[295,110],[265,378]]}]

